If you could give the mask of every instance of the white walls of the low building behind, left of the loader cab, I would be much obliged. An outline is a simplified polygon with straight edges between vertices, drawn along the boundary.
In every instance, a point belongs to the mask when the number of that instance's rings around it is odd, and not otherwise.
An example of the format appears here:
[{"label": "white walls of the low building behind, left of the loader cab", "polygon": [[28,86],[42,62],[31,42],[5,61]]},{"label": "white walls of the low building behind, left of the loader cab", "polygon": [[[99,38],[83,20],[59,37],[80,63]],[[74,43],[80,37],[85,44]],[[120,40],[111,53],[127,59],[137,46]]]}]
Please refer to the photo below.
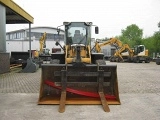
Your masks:
[{"label": "white walls of the low building behind, left of the loader cab", "polygon": [[[29,50],[29,37],[27,36],[27,32],[29,32],[28,29],[26,30],[17,30],[17,31],[12,31],[8,32],[7,34],[15,34],[17,32],[24,32],[23,38],[16,38],[16,39],[7,39],[6,41],[6,50],[7,52],[11,51],[28,51]],[[37,32],[43,34],[44,32],[49,33],[49,34],[57,34],[56,28],[52,27],[34,27],[31,28],[31,33],[32,32]],[[64,34],[63,31],[60,31],[60,34]],[[9,36],[6,36],[9,37]],[[40,36],[41,37],[41,36]],[[39,50],[40,49],[40,44],[39,44],[39,38],[35,38],[34,36],[31,38],[31,50]],[[60,48],[60,46],[55,45],[56,40],[54,39],[46,39],[46,48],[50,49],[50,52],[52,52],[52,48]],[[64,41],[60,41],[60,44],[63,46]],[[62,51],[62,50],[61,50]]]}]

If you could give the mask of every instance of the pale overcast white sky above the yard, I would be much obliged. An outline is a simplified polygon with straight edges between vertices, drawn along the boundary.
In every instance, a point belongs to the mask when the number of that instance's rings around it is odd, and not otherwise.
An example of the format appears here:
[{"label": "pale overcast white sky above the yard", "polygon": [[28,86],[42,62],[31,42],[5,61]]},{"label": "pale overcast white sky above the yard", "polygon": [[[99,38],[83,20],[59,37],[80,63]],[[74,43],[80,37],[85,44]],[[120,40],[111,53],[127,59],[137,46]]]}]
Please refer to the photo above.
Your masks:
[{"label": "pale overcast white sky above the yard", "polygon": [[[143,37],[158,31],[160,0],[13,0],[33,18],[31,27],[57,27],[64,21],[93,22],[99,34],[93,38],[121,35],[131,24],[143,29]],[[28,28],[28,24],[6,25],[6,32]],[[93,29],[94,30],[94,29]],[[92,31],[93,31],[92,30]]]}]

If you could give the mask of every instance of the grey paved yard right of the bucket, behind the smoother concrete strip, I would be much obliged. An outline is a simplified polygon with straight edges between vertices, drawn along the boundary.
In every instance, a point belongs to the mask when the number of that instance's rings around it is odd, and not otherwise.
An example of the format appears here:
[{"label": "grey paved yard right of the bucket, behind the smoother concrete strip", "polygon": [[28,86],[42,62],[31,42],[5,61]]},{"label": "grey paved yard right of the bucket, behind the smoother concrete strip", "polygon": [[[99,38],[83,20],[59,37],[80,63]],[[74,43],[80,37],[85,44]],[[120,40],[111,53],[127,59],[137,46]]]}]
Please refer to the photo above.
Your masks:
[{"label": "grey paved yard right of the bucket, behind the smoother concrete strip", "polygon": [[117,63],[117,74],[120,93],[160,93],[160,66],[154,62]]}]

